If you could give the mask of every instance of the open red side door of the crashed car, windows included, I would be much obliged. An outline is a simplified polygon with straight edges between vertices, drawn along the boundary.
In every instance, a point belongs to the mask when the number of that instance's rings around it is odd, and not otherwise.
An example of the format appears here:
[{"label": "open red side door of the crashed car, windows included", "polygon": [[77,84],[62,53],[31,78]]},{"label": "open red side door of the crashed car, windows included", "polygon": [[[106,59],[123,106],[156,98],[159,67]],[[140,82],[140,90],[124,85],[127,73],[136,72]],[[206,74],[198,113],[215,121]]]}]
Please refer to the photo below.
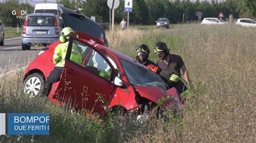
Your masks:
[{"label": "open red side door of the crashed car, windows included", "polygon": [[65,66],[54,99],[73,109],[85,109],[103,116],[104,106],[116,85],[112,84],[114,70],[103,52],[71,37]]}]

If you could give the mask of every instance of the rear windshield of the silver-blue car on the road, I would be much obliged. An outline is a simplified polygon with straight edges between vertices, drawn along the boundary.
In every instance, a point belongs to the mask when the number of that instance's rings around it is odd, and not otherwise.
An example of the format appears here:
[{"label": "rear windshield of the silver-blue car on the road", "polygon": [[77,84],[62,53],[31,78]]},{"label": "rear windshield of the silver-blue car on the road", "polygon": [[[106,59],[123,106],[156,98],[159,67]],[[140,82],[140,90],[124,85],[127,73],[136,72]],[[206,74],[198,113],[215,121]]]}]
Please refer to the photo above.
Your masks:
[{"label": "rear windshield of the silver-blue car on the road", "polygon": [[54,17],[51,16],[30,16],[28,26],[54,26]]}]

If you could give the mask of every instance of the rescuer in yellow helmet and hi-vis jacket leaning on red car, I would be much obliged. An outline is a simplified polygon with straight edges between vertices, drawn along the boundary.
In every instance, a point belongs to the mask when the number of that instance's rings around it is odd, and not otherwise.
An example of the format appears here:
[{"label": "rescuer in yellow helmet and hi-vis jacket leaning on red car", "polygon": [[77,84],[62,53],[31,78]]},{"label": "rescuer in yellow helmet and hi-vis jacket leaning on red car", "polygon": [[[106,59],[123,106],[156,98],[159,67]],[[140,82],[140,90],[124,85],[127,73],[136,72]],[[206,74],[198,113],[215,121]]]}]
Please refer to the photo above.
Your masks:
[{"label": "rescuer in yellow helmet and hi-vis jacket leaning on red car", "polygon": [[[43,96],[49,96],[52,84],[60,80],[60,75],[62,74],[62,70],[65,65],[65,57],[69,46],[70,35],[72,34],[74,34],[74,31],[70,27],[63,28],[60,34],[59,40],[62,43],[58,44],[58,46],[55,48],[52,58],[55,68],[47,77],[42,93]],[[70,60],[79,65],[82,63],[82,50],[75,44],[72,45]]]}]

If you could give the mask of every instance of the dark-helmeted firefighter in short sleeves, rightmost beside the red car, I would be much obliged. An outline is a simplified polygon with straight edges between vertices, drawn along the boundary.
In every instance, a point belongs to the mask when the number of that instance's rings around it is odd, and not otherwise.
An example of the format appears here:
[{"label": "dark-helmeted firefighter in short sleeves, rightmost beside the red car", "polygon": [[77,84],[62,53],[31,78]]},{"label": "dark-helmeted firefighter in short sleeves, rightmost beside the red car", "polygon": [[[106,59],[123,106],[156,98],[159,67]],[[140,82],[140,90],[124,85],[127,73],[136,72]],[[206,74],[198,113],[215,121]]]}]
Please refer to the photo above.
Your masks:
[{"label": "dark-helmeted firefighter in short sleeves, rightmost beside the red car", "polygon": [[[170,54],[170,49],[165,42],[158,42],[154,52],[158,55],[157,66],[162,70],[160,76],[169,81],[169,88],[175,87],[182,98],[186,98],[191,92],[190,78],[182,58],[179,55]],[[183,71],[183,78],[180,75],[180,69]]]}]

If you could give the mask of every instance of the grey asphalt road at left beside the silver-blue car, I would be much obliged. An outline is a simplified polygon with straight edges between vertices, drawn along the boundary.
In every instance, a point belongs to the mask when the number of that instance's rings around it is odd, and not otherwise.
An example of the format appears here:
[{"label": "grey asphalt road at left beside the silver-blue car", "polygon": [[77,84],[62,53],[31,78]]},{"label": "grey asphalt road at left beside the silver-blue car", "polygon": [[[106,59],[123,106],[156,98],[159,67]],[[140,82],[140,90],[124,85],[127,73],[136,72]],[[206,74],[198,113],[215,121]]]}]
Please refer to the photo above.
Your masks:
[{"label": "grey asphalt road at left beside the silver-blue car", "polygon": [[31,47],[30,50],[23,51],[21,38],[4,40],[4,46],[0,46],[0,75],[28,66],[40,48]]}]

